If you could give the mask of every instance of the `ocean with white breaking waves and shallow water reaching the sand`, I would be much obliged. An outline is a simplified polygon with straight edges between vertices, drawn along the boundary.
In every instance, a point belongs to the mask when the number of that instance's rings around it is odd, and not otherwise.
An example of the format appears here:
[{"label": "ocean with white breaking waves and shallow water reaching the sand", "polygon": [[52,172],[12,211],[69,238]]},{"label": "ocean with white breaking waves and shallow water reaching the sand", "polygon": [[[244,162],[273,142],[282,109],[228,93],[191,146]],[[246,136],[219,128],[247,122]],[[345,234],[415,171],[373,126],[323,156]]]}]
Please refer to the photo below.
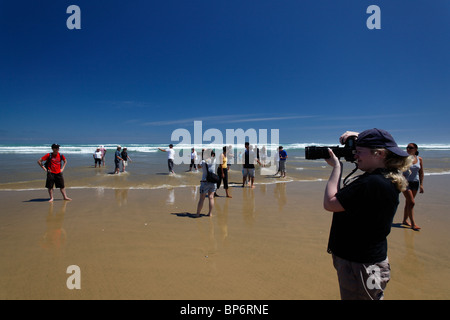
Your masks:
[{"label": "ocean with white breaking waves and shallow water reaching the sand", "polygon": [[[291,181],[320,181],[328,179],[331,172],[324,160],[306,160],[305,147],[309,145],[324,146],[325,144],[292,143],[283,145],[288,154],[286,163],[286,178],[274,177],[273,155],[268,152],[267,167],[257,166],[255,184],[274,184]],[[326,144],[336,146],[337,144]],[[128,155],[132,159],[125,173],[118,175],[114,172],[115,144],[105,144],[106,166],[94,168],[93,153],[98,145],[69,144],[61,145],[60,153],[67,158],[64,171],[66,187],[102,189],[157,189],[192,187],[200,183],[201,172],[188,172],[189,163],[175,165],[175,174],[170,175],[167,167],[167,154],[158,148],[166,149],[167,144],[123,144],[127,147]],[[194,147],[199,154],[203,148],[215,148],[219,155],[222,146],[214,145],[177,145],[175,151],[181,156],[190,154]],[[242,165],[237,164],[244,146],[234,145],[234,161],[229,173],[231,186],[242,185]],[[272,146],[275,149],[276,146]],[[406,147],[406,145],[400,145]],[[270,149],[271,146],[268,146]],[[450,144],[419,145],[420,156],[423,158],[425,176],[450,174]],[[51,152],[50,145],[23,144],[0,145],[2,166],[0,168],[0,190],[38,190],[44,189],[45,172],[37,165],[38,159]],[[350,173],[354,164],[344,161],[344,173]],[[426,178],[425,178],[426,179]]]}]

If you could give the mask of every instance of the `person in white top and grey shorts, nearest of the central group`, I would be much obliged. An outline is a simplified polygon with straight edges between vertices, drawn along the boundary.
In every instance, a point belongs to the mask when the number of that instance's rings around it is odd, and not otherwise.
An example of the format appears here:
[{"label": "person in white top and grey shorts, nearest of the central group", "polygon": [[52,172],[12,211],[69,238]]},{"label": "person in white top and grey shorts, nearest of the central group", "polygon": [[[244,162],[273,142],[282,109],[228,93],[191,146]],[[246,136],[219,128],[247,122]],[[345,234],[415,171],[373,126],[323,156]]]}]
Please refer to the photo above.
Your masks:
[{"label": "person in white top and grey shorts, nearest of the central group", "polygon": [[213,150],[210,149],[205,150],[202,154],[203,160],[198,165],[198,167],[202,169],[203,175],[202,180],[200,181],[200,199],[198,200],[197,204],[197,214],[195,215],[196,217],[200,217],[200,213],[202,211],[206,196],[208,196],[209,199],[209,210],[207,216],[211,216],[212,210],[214,208],[214,193],[217,189],[217,185],[214,182],[209,182],[206,180],[208,171],[211,173],[215,172],[216,154]]}]

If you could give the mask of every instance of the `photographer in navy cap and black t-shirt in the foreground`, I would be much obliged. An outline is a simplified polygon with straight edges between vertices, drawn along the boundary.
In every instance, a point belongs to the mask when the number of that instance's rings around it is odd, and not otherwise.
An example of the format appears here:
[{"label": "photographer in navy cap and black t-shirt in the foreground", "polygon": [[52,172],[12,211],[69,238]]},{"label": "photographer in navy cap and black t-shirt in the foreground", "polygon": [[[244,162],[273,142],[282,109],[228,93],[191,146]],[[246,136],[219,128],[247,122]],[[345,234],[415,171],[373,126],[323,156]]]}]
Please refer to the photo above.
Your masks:
[{"label": "photographer in navy cap and black t-shirt in the foreground", "polygon": [[390,279],[387,236],[406,189],[402,172],[411,164],[385,130],[347,131],[340,142],[356,136],[355,161],[364,173],[340,188],[342,164],[329,149],[333,167],[324,194],[324,208],[333,212],[328,241],[337,270],[341,299],[379,300]]}]

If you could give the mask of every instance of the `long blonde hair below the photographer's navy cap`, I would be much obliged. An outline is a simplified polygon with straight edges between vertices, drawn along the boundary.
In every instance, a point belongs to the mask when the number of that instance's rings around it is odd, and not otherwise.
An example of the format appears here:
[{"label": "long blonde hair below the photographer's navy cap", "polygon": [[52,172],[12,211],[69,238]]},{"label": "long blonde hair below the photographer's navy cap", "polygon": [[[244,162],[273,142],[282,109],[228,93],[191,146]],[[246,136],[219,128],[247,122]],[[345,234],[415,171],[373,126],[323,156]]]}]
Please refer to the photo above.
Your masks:
[{"label": "long blonde hair below the photographer's navy cap", "polygon": [[392,181],[392,183],[401,192],[406,190],[408,181],[403,176],[403,172],[409,170],[409,167],[413,163],[413,157],[401,157],[387,149],[372,149],[372,152],[384,151],[386,157],[384,158],[384,165],[387,172],[384,174],[386,178]]}]

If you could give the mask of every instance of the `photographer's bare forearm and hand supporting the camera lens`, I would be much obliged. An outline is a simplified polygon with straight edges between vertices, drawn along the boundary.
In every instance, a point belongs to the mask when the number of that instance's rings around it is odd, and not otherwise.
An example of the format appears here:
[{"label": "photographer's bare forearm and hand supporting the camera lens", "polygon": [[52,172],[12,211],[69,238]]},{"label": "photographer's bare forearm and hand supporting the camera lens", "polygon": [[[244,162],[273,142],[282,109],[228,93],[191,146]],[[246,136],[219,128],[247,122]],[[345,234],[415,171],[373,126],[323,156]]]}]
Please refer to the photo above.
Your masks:
[{"label": "photographer's bare forearm and hand supporting the camera lens", "polygon": [[330,158],[325,159],[325,161],[333,167],[333,170],[331,171],[330,178],[328,179],[327,186],[325,188],[323,207],[325,210],[331,212],[345,211],[344,207],[342,207],[339,200],[336,198],[336,193],[340,188],[342,163],[330,148],[328,148],[328,152],[330,153]]}]

